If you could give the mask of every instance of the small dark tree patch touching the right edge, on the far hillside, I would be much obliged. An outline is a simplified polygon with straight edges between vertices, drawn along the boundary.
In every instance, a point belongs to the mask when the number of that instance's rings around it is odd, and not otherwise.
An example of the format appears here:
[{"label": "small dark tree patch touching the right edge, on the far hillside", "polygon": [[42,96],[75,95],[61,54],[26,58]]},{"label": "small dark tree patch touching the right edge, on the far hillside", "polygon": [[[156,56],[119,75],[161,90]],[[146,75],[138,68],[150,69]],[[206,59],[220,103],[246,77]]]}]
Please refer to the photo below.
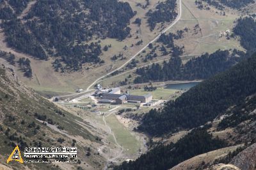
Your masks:
[{"label": "small dark tree patch touching the right edge, on the far hillside", "polygon": [[256,22],[252,17],[238,19],[233,31],[241,37],[240,42],[244,49],[256,50]]}]

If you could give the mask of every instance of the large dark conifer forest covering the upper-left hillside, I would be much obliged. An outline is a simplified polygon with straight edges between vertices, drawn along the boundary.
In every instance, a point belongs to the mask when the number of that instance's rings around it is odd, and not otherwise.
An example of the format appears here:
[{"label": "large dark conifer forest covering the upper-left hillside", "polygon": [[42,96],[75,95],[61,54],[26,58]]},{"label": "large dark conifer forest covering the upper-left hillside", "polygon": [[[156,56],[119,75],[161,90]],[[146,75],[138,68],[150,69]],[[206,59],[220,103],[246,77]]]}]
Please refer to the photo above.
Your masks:
[{"label": "large dark conifer forest covering the upper-left hillside", "polygon": [[116,0],[39,0],[28,15],[17,19],[27,3],[1,4],[0,18],[4,19],[2,27],[8,45],[39,59],[61,58],[66,66],[60,67],[72,70],[81,69],[83,63],[104,63],[99,58],[100,44],[86,41],[107,37],[124,40],[130,34],[127,25],[134,16],[129,3]]}]

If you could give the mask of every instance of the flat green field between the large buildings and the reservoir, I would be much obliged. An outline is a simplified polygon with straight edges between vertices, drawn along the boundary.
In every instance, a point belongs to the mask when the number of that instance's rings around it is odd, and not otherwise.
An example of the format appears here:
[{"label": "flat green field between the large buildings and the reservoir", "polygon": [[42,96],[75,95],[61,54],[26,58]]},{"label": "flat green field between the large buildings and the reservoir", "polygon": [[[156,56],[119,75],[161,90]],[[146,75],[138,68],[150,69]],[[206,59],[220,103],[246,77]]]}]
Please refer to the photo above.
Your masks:
[{"label": "flat green field between the large buildings and the reservoir", "polygon": [[165,89],[165,88],[157,88],[155,91],[144,91],[144,89],[132,89],[129,90],[131,95],[147,95],[151,93],[154,99],[159,100],[168,100],[171,95],[173,95],[177,90],[176,89]]}]

